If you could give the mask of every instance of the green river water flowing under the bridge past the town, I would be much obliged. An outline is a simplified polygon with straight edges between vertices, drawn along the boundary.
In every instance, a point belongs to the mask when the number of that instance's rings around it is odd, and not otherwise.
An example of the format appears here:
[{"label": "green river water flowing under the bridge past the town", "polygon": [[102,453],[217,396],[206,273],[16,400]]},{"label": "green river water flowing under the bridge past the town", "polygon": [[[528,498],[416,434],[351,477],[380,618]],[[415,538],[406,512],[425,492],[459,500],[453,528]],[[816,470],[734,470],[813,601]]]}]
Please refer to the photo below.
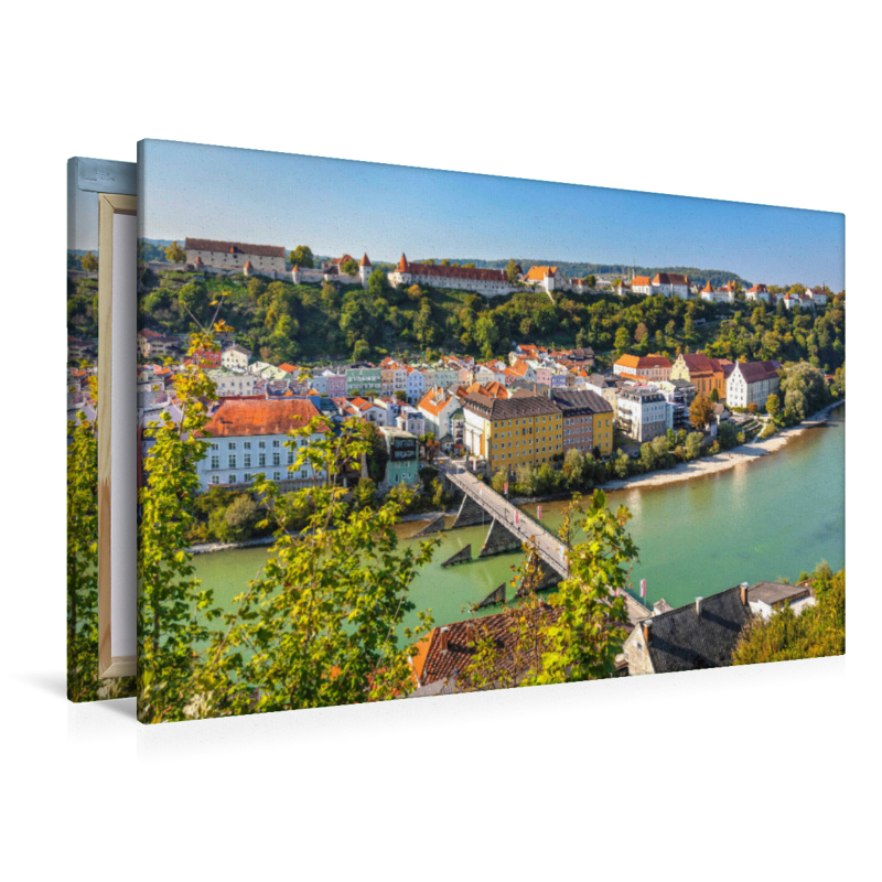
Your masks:
[{"label": "green river water flowing under the bridge past the town", "polygon": [[[633,592],[638,595],[639,581],[646,579],[647,604],[664,598],[680,606],[740,582],[794,580],[821,559],[835,570],[841,568],[846,562],[845,453],[842,405],[826,424],[808,429],[761,460],[665,486],[607,493],[611,507],[625,505],[633,515],[630,529],[639,548],[632,571]],[[548,528],[560,526],[562,507],[562,502],[542,504]],[[536,515],[536,506],[525,508]],[[400,535],[407,537],[421,526],[402,524]],[[411,598],[417,609],[431,609],[437,625],[467,617],[470,604],[510,579],[520,553],[441,568],[441,561],[466,542],[472,544],[474,558],[485,535],[486,528],[481,527],[447,533],[431,563],[413,581]],[[215,600],[230,609],[233,596],[266,559],[266,548],[247,548],[200,555],[194,563],[203,584],[214,589]],[[416,613],[406,624],[415,623]]]}]

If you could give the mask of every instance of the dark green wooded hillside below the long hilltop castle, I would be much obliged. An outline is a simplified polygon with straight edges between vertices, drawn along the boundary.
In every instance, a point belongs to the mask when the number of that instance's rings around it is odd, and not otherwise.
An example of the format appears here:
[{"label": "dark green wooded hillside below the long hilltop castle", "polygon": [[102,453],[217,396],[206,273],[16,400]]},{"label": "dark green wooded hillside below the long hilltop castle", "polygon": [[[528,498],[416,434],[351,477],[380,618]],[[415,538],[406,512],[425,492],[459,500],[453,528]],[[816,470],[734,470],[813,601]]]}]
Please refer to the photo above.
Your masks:
[{"label": "dark green wooded hillside below the long hilltop castle", "polygon": [[[88,280],[72,287],[71,326],[88,336],[95,290]],[[845,292],[816,311],[788,311],[783,303],[714,304],[663,297],[559,293],[552,302],[530,290],[492,299],[418,286],[396,290],[379,270],[367,290],[148,270],[139,300],[141,326],[187,333],[222,294],[237,341],[276,362],[387,353],[431,358],[441,352],[488,358],[504,356],[513,342],[525,341],[591,346],[607,358],[621,352],[676,357],[687,348],[703,348],[733,361],[806,359],[825,370],[845,361]]]}]

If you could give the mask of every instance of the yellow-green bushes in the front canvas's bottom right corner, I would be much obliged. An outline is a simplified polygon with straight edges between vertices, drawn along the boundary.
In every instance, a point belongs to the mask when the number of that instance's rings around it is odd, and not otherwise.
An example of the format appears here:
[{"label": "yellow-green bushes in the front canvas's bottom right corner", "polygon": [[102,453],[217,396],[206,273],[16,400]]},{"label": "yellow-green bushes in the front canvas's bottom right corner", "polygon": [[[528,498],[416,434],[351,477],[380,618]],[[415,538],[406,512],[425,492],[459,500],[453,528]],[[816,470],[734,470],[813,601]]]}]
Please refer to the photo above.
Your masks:
[{"label": "yellow-green bushes in the front canvas's bottom right corner", "polygon": [[846,571],[821,563],[811,574],[817,603],[795,615],[789,604],[742,633],[733,665],[821,658],[846,652]]}]

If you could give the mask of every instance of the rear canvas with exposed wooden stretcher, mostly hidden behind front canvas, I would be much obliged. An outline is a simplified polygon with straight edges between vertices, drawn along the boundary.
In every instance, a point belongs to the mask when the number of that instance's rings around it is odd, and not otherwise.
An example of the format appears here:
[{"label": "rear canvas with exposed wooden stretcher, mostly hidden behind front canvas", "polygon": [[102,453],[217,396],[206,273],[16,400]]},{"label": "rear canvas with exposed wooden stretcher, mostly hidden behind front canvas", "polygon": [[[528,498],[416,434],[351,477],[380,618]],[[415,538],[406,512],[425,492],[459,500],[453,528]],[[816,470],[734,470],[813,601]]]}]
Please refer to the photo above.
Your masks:
[{"label": "rear canvas with exposed wooden stretcher, mostly hidden behind front canvas", "polygon": [[[111,409],[123,426],[133,424],[136,412],[130,333],[123,329],[112,346],[110,309],[116,288],[116,320],[128,315],[133,324],[135,186],[135,163],[84,157],[67,163],[67,697],[72,701],[135,695],[138,460],[122,432],[117,438],[125,444],[121,455],[116,448],[120,480],[110,481]],[[111,582],[118,587],[112,596]]]}]

